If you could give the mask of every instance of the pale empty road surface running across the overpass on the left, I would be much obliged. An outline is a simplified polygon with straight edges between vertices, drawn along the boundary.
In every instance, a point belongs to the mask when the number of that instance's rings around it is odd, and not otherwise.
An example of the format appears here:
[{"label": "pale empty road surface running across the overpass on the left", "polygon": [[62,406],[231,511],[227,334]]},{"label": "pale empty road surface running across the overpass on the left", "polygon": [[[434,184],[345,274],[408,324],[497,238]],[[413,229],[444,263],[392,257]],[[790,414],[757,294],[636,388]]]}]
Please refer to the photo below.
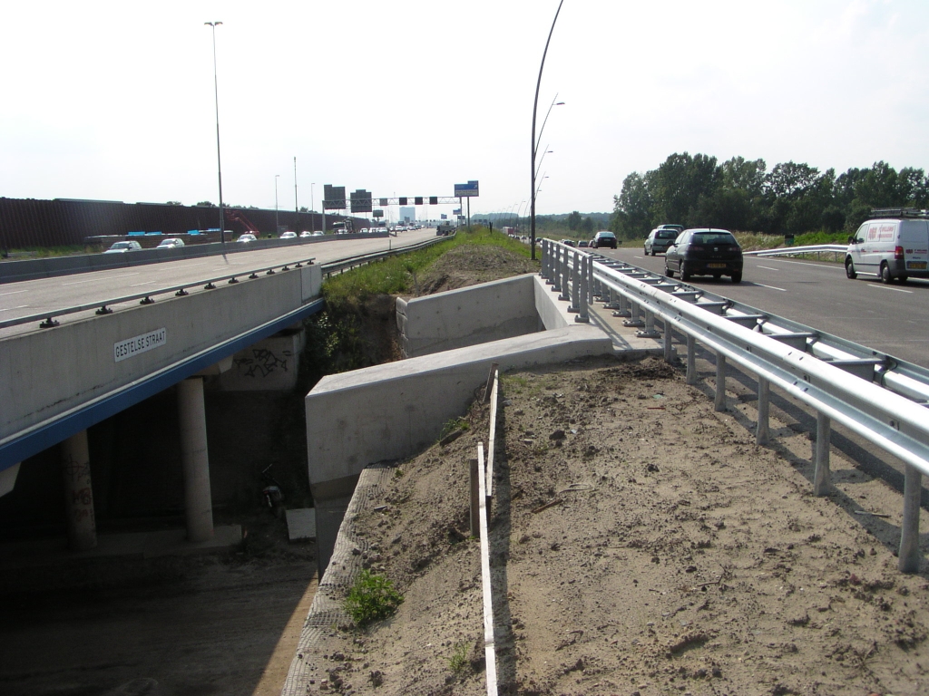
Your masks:
[{"label": "pale empty road surface running across the overpass on the left", "polygon": [[[314,258],[315,264],[325,264],[347,256],[409,246],[435,236],[434,228],[401,232],[396,238],[340,239],[334,236],[331,241],[7,283],[0,285],[0,320],[54,312],[62,307],[102,303],[107,299],[135,295],[147,289],[168,288],[223,276],[237,270],[246,271],[307,258]],[[108,306],[118,311],[137,305],[136,300]],[[57,318],[64,324],[85,319],[87,316],[93,316],[93,311]],[[35,330],[43,329],[39,329],[37,323],[7,327],[0,329],[0,340]]]}]

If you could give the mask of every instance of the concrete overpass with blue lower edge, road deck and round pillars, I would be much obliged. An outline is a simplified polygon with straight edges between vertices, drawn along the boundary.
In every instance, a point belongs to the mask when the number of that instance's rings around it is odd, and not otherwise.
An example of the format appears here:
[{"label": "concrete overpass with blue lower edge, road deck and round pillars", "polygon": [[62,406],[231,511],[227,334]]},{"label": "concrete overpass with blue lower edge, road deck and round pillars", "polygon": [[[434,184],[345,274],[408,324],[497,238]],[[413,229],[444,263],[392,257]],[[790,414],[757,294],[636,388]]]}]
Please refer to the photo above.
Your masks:
[{"label": "concrete overpass with blue lower edge, road deck and round pillars", "polygon": [[[188,538],[210,538],[203,380],[285,388],[297,329],[322,308],[322,265],[430,237],[327,240],[0,285],[0,495],[14,490],[30,458],[58,448],[71,547],[93,548],[87,429],[177,385]],[[58,324],[16,320],[46,315]],[[259,344],[264,365],[236,364]]]}]

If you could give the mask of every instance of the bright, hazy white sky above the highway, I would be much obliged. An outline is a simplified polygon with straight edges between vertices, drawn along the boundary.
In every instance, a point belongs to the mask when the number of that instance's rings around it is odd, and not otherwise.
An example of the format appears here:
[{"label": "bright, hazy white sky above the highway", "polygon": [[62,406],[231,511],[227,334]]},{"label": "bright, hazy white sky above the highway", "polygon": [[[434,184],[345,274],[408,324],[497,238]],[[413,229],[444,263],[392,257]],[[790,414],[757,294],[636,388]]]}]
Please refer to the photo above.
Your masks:
[{"label": "bright, hazy white sky above the highway", "polygon": [[[472,215],[525,211],[557,6],[0,4],[0,196],[216,202],[204,22],[222,21],[224,203],[319,210],[324,184],[451,196],[478,180]],[[925,0],[564,0],[538,97],[537,213],[609,212],[626,175],[674,152],[929,170],[927,83]]]}]

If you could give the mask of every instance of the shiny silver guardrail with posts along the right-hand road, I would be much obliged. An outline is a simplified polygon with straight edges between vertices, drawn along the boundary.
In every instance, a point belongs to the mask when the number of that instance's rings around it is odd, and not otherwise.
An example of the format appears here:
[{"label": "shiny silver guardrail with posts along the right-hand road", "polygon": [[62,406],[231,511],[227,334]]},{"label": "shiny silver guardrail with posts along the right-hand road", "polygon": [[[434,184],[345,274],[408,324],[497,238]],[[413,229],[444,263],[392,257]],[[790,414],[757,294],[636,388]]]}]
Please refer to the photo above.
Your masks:
[{"label": "shiny silver guardrail with posts along the right-hand road", "polygon": [[[587,321],[587,304],[608,297],[627,326],[663,338],[667,360],[673,332],[687,341],[687,382],[697,380],[695,342],[716,359],[716,409],[725,409],[726,360],[758,378],[756,442],[769,437],[769,388],[777,386],[817,413],[814,493],[831,489],[831,420],[901,459],[906,466],[899,569],[920,564],[919,514],[922,474],[929,474],[929,370],[853,342],[831,337],[781,317],[711,295],[671,278],[596,253],[543,241],[542,275],[571,302],[577,321]],[[644,314],[644,318],[642,315]],[[660,333],[655,318],[663,323]]]}]

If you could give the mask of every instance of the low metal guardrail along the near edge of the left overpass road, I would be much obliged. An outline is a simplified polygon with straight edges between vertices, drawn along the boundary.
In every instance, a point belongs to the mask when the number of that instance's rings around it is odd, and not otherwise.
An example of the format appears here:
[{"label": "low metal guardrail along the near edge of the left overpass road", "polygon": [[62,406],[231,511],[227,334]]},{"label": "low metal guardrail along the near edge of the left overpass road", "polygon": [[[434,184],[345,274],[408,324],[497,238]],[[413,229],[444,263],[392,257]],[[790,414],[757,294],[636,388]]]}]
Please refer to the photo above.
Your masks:
[{"label": "low metal guardrail along the near edge of the left overpass road", "polygon": [[[396,255],[399,253],[406,253],[407,251],[417,251],[419,249],[424,249],[425,247],[436,244],[437,242],[447,238],[448,237],[426,239],[423,242],[400,247],[399,249],[377,251],[375,253],[361,254],[356,256],[347,256],[344,259],[338,259],[327,264],[321,264],[322,272],[327,276],[332,275],[335,271],[341,272],[349,268],[354,268],[358,265],[370,264],[373,261],[380,261],[388,256]],[[40,329],[52,329],[59,326],[59,322],[56,320],[56,317],[68,316],[78,312],[86,312],[91,309],[96,309],[96,313],[98,315],[108,315],[112,313],[111,306],[114,304],[129,303],[136,300],[139,300],[139,304],[152,304],[155,302],[152,298],[157,297],[158,295],[174,293],[177,297],[183,297],[184,295],[189,294],[188,290],[198,286],[203,286],[203,290],[215,290],[217,283],[226,282],[228,285],[233,285],[235,283],[241,282],[239,278],[242,277],[254,280],[255,278],[259,277],[259,274],[273,276],[275,273],[289,271],[292,267],[301,268],[305,264],[311,265],[315,260],[316,257],[313,256],[306,259],[300,259],[296,262],[290,261],[286,264],[258,266],[255,268],[237,271],[236,273],[232,274],[227,273],[222,276],[201,278],[199,280],[182,283],[180,285],[171,285],[164,288],[158,288],[157,290],[146,290],[144,292],[137,292],[131,295],[120,295],[118,297],[112,297],[107,300],[93,303],[74,304],[72,306],[61,307],[50,312],[46,311],[28,316],[19,316],[14,319],[0,321],[0,329],[21,326],[23,324],[32,324],[36,321],[40,322]]]}]

